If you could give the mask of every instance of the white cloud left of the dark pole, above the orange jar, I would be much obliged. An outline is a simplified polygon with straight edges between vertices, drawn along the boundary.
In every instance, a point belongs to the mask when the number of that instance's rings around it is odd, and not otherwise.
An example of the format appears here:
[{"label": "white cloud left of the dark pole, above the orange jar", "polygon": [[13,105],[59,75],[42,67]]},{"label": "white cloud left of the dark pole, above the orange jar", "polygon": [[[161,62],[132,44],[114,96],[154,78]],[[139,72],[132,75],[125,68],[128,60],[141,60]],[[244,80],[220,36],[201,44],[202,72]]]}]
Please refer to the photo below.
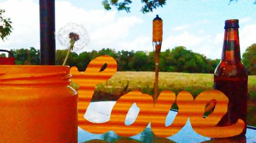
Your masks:
[{"label": "white cloud left of the dark pole, above the orange jar", "polygon": [[11,0],[0,3],[6,17],[12,21],[13,31],[3,42],[1,49],[39,47],[39,6],[32,0]]}]

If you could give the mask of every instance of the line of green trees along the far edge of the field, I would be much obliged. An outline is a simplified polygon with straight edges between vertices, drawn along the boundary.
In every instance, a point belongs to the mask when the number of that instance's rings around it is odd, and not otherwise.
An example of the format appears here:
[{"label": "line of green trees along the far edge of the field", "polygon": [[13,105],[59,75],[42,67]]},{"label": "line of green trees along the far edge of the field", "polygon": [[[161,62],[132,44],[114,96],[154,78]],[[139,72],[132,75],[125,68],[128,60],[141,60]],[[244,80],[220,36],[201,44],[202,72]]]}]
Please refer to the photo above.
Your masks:
[{"label": "line of green trees along the far edge of the field", "polygon": [[[255,73],[255,47],[256,44],[247,48],[243,54],[243,63],[250,74]],[[56,51],[56,65],[62,65],[68,50]],[[34,47],[30,49],[11,49],[14,54],[16,65],[39,65],[40,51]],[[76,66],[79,71],[84,71],[91,60],[100,55],[110,55],[118,63],[118,71],[155,71],[154,52],[144,51],[115,51],[103,48],[99,51],[84,51],[80,54],[71,52],[66,65]],[[0,56],[5,56],[4,53]],[[254,60],[253,60],[254,59]],[[214,73],[220,60],[211,60],[205,55],[187,50],[184,46],[166,49],[160,54],[161,72],[186,72],[186,73]]]}]

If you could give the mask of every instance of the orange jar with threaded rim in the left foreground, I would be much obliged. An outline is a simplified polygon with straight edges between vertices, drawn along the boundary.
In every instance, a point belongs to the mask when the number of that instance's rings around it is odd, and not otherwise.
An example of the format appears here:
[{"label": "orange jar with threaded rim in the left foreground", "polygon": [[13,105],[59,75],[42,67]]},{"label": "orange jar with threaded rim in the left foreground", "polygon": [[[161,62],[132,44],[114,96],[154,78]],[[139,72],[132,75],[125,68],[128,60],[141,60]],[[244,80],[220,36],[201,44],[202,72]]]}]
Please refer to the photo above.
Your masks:
[{"label": "orange jar with threaded rim in the left foreground", "polygon": [[68,66],[0,66],[0,142],[77,142]]}]

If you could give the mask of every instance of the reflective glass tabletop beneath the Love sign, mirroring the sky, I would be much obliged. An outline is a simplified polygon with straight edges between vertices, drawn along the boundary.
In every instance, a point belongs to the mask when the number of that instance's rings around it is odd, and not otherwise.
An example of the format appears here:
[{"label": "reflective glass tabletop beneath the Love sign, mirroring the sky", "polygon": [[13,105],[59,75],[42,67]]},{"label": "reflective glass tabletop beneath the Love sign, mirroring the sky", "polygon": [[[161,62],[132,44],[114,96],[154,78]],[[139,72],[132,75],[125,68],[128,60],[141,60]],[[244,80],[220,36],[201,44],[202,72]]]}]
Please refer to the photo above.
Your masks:
[{"label": "reflective glass tabletop beneath the Love sign, mirroring the sky", "polygon": [[[115,101],[102,101],[91,102],[88,111],[85,113],[84,118],[94,123],[103,123],[110,120],[111,110],[116,102]],[[131,124],[135,121],[139,112],[136,104],[130,108],[127,113],[125,124]],[[177,115],[176,111],[170,110],[165,125],[170,125]],[[244,141],[241,141],[244,140]],[[104,134],[92,134],[78,127],[78,142],[246,142],[256,143],[256,130],[247,128],[246,136],[241,139],[235,140],[211,140],[209,137],[202,136],[196,133],[187,120],[186,125],[175,135],[160,138],[153,134],[150,124],[144,129],[143,132],[132,137],[120,137],[113,131]]]}]

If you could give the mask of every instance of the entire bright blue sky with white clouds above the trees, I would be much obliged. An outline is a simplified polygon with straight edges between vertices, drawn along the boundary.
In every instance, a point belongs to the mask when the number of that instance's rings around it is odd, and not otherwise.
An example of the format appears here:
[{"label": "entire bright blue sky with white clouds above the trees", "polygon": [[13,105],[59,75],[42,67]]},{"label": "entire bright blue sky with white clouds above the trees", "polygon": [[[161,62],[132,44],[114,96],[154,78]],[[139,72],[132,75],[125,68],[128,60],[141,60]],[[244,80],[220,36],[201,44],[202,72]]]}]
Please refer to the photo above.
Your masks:
[{"label": "entire bright blue sky with white clouds above the trees", "polygon": [[[163,19],[162,51],[176,46],[220,59],[227,19],[239,19],[241,55],[256,43],[256,5],[254,0],[179,0],[166,1],[163,8],[143,14],[142,3],[133,1],[131,13],[104,10],[101,0],[55,0],[56,35],[67,23],[83,25],[90,37],[83,51],[111,48],[153,51],[152,20],[158,14]],[[10,17],[13,32],[8,40],[0,40],[0,49],[35,47],[40,49],[39,1],[0,0],[0,9]],[[56,38],[56,49],[67,49]]]}]

